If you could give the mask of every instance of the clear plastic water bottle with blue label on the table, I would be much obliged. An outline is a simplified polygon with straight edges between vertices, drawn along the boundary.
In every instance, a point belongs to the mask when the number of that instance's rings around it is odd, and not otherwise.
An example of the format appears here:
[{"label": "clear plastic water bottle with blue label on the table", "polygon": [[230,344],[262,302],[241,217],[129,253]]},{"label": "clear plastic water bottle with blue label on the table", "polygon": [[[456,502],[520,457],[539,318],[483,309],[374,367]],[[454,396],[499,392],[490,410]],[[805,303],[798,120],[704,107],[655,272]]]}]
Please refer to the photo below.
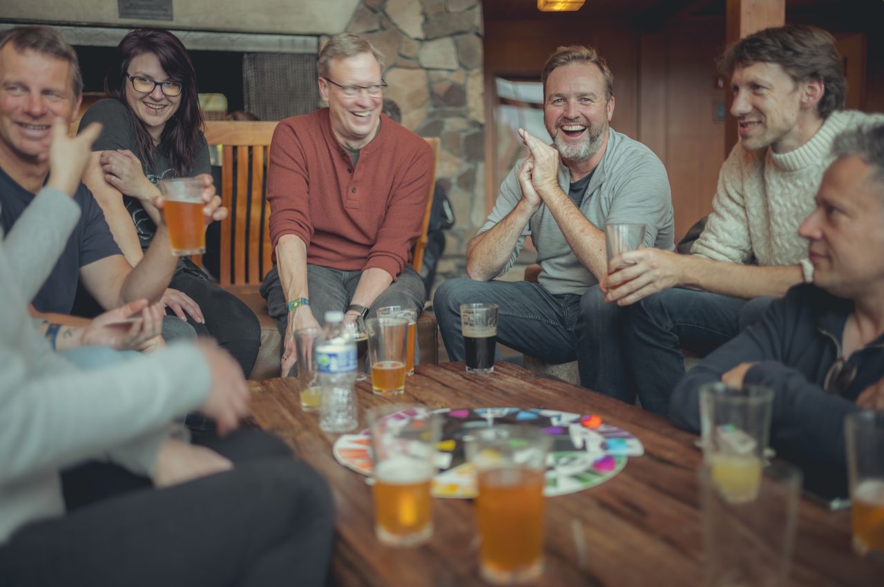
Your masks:
[{"label": "clear plastic water bottle with blue label on the table", "polygon": [[325,313],[323,337],[313,351],[322,390],[319,428],[326,432],[356,428],[356,342],[342,328],[343,320],[343,312]]}]

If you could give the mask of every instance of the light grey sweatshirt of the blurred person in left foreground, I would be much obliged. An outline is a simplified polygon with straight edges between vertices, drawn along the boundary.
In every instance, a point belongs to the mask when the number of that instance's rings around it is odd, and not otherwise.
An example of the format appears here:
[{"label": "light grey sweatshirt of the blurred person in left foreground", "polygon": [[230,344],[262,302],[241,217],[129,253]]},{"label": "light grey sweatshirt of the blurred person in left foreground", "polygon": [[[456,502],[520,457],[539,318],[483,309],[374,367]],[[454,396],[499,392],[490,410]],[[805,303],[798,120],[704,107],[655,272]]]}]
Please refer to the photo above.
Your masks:
[{"label": "light grey sweatshirt of the blurred person in left foreground", "polygon": [[85,372],[36,331],[28,300],[79,216],[69,196],[44,187],[0,239],[0,544],[27,522],[64,514],[59,469],[99,459],[149,475],[171,420],[209,393],[195,347]]}]

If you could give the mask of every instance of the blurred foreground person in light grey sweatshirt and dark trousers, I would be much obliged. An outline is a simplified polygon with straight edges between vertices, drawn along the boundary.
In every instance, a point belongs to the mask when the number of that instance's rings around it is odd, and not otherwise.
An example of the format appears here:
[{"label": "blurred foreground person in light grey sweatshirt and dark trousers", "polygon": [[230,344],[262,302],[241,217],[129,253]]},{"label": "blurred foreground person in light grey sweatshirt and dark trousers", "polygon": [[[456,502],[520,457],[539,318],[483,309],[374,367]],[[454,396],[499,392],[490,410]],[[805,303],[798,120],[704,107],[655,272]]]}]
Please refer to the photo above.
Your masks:
[{"label": "blurred foreground person in light grey sweatshirt and dark trousers", "polygon": [[[19,91],[38,106],[46,99],[40,88]],[[249,431],[224,439],[228,459],[189,445],[171,424],[200,408],[223,433],[248,414],[248,389],[229,354],[210,342],[182,343],[80,371],[38,332],[28,304],[80,217],[71,196],[98,134],[95,126],[72,140],[66,130],[56,118],[51,135],[48,125],[0,133],[0,149],[11,146],[7,133],[51,141],[48,182],[0,238],[0,583],[324,584],[333,526],[322,479]],[[125,325],[100,321],[91,332],[155,334],[156,306],[136,301],[120,312],[139,308]],[[59,471],[89,459],[150,486],[65,511]]]}]

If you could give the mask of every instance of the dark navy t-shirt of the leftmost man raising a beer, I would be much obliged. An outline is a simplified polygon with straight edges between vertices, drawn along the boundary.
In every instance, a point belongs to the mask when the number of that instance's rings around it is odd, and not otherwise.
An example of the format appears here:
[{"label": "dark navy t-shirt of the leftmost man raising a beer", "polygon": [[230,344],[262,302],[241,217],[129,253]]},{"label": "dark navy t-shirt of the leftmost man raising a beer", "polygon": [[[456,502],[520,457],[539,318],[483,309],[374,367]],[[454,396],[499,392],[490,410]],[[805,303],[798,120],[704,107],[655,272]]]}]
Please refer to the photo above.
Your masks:
[{"label": "dark navy t-shirt of the leftmost man raising a beer", "polygon": [[[19,186],[0,169],[0,203],[3,204],[0,206],[0,222],[3,223],[4,232],[10,231],[32,200],[34,194]],[[80,184],[73,200],[80,205],[80,220],[49,278],[34,296],[34,308],[40,312],[70,314],[77,293],[80,267],[110,255],[121,255],[104,221],[102,209],[88,187]]]}]

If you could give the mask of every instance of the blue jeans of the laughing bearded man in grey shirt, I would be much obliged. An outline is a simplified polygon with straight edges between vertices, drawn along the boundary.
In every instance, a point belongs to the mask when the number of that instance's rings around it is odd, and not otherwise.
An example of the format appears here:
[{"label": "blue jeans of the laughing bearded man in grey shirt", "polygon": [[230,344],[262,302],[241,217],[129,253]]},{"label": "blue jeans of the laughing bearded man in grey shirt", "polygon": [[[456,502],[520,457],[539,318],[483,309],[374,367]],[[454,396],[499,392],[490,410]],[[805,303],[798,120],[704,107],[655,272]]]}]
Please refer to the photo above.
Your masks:
[{"label": "blue jeans of the laughing bearded man in grey shirt", "polygon": [[449,279],[436,290],[433,309],[452,361],[464,358],[461,303],[473,302],[498,304],[498,340],[507,347],[545,362],[576,360],[580,385],[635,400],[621,354],[623,312],[606,303],[598,286],[553,295],[527,281]]}]

